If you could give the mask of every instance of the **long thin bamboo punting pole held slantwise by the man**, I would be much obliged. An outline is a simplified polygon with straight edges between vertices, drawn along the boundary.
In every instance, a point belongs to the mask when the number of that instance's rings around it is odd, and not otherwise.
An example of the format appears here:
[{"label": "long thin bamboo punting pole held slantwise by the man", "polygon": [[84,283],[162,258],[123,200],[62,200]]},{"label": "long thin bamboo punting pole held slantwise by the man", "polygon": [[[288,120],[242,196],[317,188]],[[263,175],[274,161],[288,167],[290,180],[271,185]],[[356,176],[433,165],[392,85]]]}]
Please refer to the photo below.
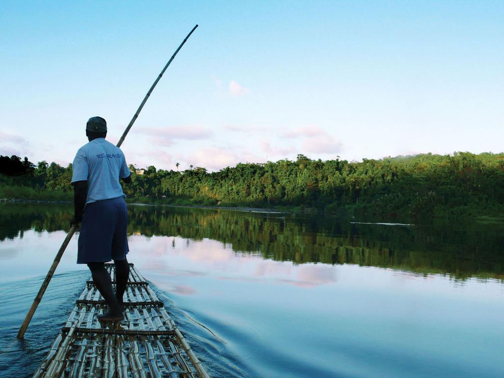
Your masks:
[{"label": "long thin bamboo punting pole held slantwise by the man", "polygon": [[[135,112],[135,115],[133,116],[130,123],[128,124],[128,127],[126,128],[126,130],[124,130],[124,133],[122,134],[121,138],[119,139],[119,142],[117,142],[117,145],[116,145],[117,147],[120,147],[122,142],[124,142],[124,139],[128,135],[131,127],[133,126],[133,123],[135,123],[135,121],[137,120],[138,115],[140,114],[140,111],[144,107],[149,96],[151,95],[152,91],[156,87],[157,83],[159,82],[159,80],[163,76],[163,74],[166,71],[166,69],[168,68],[168,66],[171,64],[172,60],[175,58],[175,55],[182,48],[185,41],[187,41],[187,39],[191,36],[191,34],[193,34],[193,32],[196,30],[197,27],[198,27],[198,25],[196,25],[193,28],[193,30],[191,30],[191,32],[189,34],[187,34],[187,36],[184,38],[182,43],[180,43],[180,46],[178,46],[178,48],[175,50],[175,52],[171,56],[170,60],[168,60],[168,63],[166,64],[166,66],[164,66],[163,70],[161,71],[161,73],[159,74],[157,79],[154,81],[154,84],[152,84],[151,88],[149,89],[149,92],[147,92],[147,94],[145,95],[144,100],[142,101],[142,103],[138,107],[137,111]],[[45,280],[42,283],[42,286],[40,287],[40,290],[38,291],[37,295],[35,296],[33,304],[31,305],[30,309],[28,310],[28,313],[26,314],[25,320],[24,320],[23,324],[21,325],[21,328],[19,329],[18,336],[17,336],[18,339],[22,339],[25,336],[26,329],[28,328],[28,325],[30,324],[31,319],[33,318],[33,314],[35,313],[35,310],[37,309],[38,304],[42,300],[42,296],[44,295],[45,290],[47,289],[47,286],[49,285],[49,282],[51,281],[52,275],[54,274],[54,271],[56,270],[56,267],[59,264],[59,260],[61,260],[61,256],[63,256],[65,249],[67,249],[67,245],[70,242],[70,240],[72,239],[72,236],[74,235],[75,231],[77,230],[77,227],[78,227],[78,225],[74,224],[70,228],[70,231],[67,234],[67,237],[63,241],[63,244],[61,244],[61,247],[59,248],[58,253],[56,254],[56,257],[54,258],[54,261],[52,262],[51,268],[49,269],[49,272],[47,272],[47,276],[45,276]]]}]

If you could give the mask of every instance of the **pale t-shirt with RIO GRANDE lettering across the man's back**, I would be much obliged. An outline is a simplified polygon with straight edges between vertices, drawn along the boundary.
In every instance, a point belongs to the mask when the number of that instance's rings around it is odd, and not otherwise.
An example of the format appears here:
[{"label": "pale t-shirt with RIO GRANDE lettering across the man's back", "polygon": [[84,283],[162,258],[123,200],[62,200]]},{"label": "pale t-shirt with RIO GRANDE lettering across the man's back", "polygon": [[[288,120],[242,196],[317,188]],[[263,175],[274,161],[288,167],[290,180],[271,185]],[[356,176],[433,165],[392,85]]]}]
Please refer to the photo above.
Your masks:
[{"label": "pale t-shirt with RIO GRANDE lettering across the man's back", "polygon": [[86,204],[126,197],[119,178],[129,177],[130,168],[119,147],[105,140],[93,139],[82,146],[73,163],[72,182],[88,181]]}]

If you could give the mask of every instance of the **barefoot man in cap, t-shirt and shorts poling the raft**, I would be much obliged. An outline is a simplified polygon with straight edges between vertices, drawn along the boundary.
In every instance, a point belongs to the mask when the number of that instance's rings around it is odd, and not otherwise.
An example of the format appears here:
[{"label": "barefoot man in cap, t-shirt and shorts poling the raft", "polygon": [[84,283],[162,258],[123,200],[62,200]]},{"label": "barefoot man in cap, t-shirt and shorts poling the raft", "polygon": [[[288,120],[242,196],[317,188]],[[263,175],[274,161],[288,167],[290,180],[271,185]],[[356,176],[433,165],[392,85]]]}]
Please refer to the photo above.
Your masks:
[{"label": "barefoot man in cap, t-shirt and shorts poling the raft", "polygon": [[[82,221],[77,264],[88,265],[94,284],[109,306],[109,311],[98,320],[114,322],[123,319],[122,296],[130,274],[126,260],[130,250],[126,232],[128,209],[119,178],[130,183],[131,171],[122,151],[107,142],[106,135],[105,119],[89,118],[89,143],[77,151],[73,163],[75,215],[71,224]],[[104,265],[110,260],[115,264],[115,294]]]}]

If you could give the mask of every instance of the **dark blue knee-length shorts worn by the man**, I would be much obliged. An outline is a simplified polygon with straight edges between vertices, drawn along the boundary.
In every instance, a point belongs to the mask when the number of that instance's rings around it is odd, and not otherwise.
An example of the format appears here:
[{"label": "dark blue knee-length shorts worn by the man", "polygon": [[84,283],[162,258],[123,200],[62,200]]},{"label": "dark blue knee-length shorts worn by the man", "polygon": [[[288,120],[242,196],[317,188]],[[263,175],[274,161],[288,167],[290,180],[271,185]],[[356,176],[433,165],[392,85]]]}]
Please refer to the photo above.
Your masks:
[{"label": "dark blue knee-length shorts worn by the man", "polygon": [[123,197],[96,201],[84,209],[77,264],[124,260],[128,247],[128,209]]}]

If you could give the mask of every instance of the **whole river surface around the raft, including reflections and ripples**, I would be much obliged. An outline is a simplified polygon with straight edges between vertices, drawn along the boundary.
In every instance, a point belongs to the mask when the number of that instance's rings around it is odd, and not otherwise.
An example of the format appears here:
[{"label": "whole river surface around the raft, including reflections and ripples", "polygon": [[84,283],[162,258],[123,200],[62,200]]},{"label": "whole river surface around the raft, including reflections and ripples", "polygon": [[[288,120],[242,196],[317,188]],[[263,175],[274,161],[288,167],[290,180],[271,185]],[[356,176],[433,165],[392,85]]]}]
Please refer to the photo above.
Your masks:
[{"label": "whole river surface around the raft, including reflections and ripples", "polygon": [[[129,206],[128,259],[214,377],[504,376],[504,225]],[[0,377],[28,377],[90,274],[71,206],[0,205]]]}]

